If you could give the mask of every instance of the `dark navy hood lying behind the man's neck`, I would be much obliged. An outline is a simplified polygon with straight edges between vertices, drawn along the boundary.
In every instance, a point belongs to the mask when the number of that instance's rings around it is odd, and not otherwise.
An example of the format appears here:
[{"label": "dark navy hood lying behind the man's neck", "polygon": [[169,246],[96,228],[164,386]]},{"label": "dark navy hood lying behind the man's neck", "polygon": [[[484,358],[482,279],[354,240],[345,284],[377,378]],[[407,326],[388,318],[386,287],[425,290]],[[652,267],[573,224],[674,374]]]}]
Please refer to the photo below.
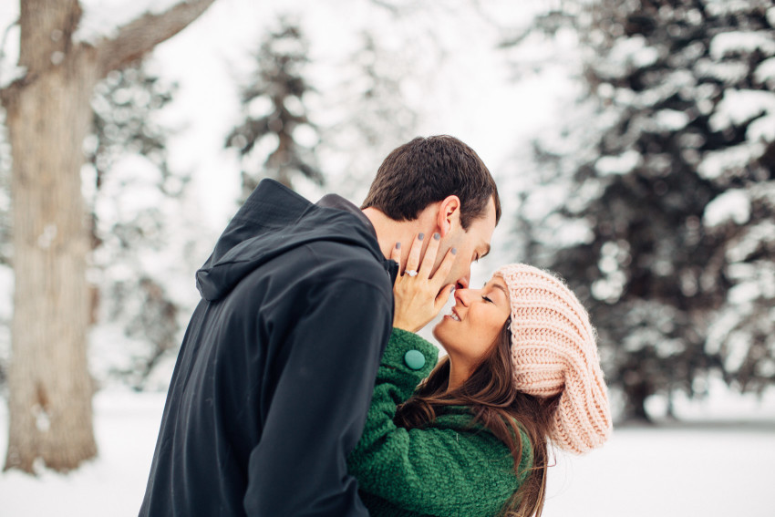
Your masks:
[{"label": "dark navy hood lying behind the man's neck", "polygon": [[361,246],[380,264],[387,262],[373,230],[354,213],[315,205],[277,181],[263,180],[197,271],[197,289],[205,300],[219,300],[261,264],[314,241]]}]

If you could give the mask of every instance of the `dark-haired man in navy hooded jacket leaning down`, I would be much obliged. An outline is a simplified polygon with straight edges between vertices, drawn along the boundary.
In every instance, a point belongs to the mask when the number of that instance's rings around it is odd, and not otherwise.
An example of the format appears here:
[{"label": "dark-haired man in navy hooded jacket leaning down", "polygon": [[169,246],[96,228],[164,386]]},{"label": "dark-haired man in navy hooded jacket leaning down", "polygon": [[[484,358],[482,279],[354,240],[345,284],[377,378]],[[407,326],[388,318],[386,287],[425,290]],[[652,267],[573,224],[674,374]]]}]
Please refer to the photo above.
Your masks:
[{"label": "dark-haired man in navy hooded jacket leaning down", "polygon": [[262,181],[197,272],[140,515],[366,516],[346,457],[392,326],[388,257],[439,233],[445,284],[467,286],[500,213],[448,136],[393,150],[362,210]]}]

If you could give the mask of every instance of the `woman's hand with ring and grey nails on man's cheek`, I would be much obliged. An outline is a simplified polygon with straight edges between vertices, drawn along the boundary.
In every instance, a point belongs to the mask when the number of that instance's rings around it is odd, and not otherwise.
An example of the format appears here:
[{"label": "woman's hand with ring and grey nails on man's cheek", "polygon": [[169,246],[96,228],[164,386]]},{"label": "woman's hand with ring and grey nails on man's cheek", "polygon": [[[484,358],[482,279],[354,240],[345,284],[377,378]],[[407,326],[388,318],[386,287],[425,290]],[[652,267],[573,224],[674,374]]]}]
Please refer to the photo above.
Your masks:
[{"label": "woman's hand with ring and grey nails on man's cheek", "polygon": [[[430,276],[430,270],[433,269],[436,255],[439,253],[440,240],[439,233],[434,233],[425,250],[425,256],[422,257],[422,264],[420,264],[421,234],[412,242],[406,270],[398,274],[396,284],[393,285],[393,295],[396,300],[394,327],[417,332],[439,314],[452,293],[455,285],[444,285],[443,282],[455,262],[454,248],[447,252],[444,260],[439,264],[439,269]],[[394,247],[390,258],[401,264],[401,250]],[[413,275],[414,272],[417,274]]]}]

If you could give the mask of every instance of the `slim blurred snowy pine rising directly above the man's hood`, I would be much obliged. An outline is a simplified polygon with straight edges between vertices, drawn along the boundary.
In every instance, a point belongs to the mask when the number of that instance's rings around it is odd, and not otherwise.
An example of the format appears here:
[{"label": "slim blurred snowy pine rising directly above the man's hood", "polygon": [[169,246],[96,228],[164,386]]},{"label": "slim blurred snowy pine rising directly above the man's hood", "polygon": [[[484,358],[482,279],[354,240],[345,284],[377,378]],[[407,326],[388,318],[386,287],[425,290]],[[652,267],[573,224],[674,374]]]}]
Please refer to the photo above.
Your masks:
[{"label": "slim blurred snowy pine rising directly above the man's hood", "polygon": [[[301,27],[287,18],[281,18],[278,27],[263,38],[255,57],[257,71],[242,92],[245,120],[232,130],[225,144],[239,150],[243,158],[243,198],[262,177],[291,188],[296,174],[321,185],[324,182],[315,165],[317,128],[308,118],[304,104],[305,95],[313,91],[304,75],[309,62],[307,54],[308,44]],[[302,139],[307,141],[303,143]],[[250,166],[256,153],[263,156],[267,150],[263,142],[274,150],[263,164]]]}]

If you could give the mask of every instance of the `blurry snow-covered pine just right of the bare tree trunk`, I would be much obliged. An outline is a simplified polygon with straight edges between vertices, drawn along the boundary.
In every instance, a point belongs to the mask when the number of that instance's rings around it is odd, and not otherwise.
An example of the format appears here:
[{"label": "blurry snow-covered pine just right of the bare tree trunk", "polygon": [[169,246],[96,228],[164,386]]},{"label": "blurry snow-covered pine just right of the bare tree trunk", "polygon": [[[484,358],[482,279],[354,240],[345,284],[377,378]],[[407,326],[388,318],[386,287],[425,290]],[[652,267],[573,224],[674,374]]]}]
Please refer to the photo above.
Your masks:
[{"label": "blurry snow-covered pine just right of the bare tree trunk", "polygon": [[[111,72],[95,88],[91,102],[94,134],[87,139],[87,160],[94,178],[93,262],[100,279],[93,287],[91,320],[122,326],[125,336],[137,344],[114,352],[113,356],[129,357],[123,367],[112,365],[114,371],[108,372],[133,388],[142,388],[160,359],[179,344],[181,307],[170,293],[174,274],[159,265],[170,250],[186,256],[181,239],[173,238],[181,237],[186,225],[174,214],[184,212],[182,198],[190,178],[170,170],[169,129],[154,122],[176,88],[138,62]],[[121,165],[131,157],[135,157],[131,165]],[[111,171],[114,168],[118,170]],[[107,321],[99,321],[100,315]],[[127,343],[111,340],[95,346]]]}]

